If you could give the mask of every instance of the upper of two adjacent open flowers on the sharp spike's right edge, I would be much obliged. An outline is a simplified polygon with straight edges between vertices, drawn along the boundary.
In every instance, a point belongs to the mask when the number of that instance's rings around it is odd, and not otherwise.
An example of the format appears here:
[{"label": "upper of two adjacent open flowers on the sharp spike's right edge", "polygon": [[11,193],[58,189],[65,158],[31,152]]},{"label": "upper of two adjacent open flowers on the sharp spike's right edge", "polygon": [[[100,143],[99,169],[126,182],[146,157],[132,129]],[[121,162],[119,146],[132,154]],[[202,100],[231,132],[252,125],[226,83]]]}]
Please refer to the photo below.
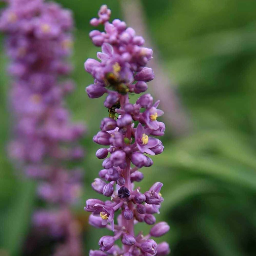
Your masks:
[{"label": "upper of two adjacent open flowers on the sharp spike's right edge", "polygon": [[164,112],[160,109],[157,109],[159,105],[159,100],[150,108],[147,109],[143,113],[143,117],[145,119],[145,123],[152,130],[157,130],[159,128],[159,123],[157,122],[157,117],[164,114]]}]

